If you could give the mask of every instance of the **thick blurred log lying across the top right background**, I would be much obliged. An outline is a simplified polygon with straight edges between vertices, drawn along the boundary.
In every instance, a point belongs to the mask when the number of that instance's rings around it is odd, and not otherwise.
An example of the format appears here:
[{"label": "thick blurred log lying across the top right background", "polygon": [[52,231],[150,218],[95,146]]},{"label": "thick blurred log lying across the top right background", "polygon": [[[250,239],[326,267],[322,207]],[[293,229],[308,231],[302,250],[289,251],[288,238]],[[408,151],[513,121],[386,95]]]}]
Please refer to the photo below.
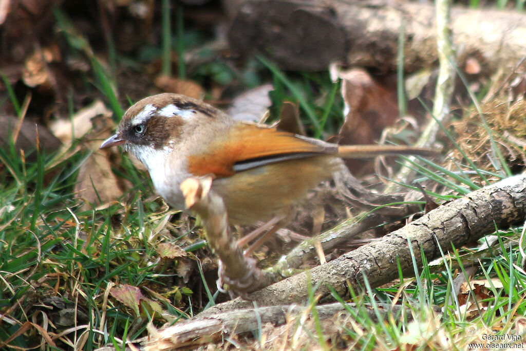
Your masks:
[{"label": "thick blurred log lying across the top right background", "polygon": [[[394,71],[404,31],[404,70],[437,61],[432,4],[378,0],[248,0],[241,4],[228,39],[239,55],[263,53],[284,69],[321,71],[349,65]],[[455,7],[451,11],[457,63],[478,59],[482,72],[514,66],[526,56],[526,15]]]}]

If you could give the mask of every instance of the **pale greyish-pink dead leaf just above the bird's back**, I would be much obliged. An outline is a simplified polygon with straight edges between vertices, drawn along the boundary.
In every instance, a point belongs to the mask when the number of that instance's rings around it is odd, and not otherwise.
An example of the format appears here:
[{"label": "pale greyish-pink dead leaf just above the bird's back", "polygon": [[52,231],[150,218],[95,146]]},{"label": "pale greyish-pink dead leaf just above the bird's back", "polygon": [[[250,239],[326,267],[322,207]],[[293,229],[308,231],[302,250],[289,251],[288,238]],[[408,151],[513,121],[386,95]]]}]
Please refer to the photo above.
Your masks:
[{"label": "pale greyish-pink dead leaf just above the bird's back", "polygon": [[268,93],[274,90],[271,84],[250,89],[232,100],[227,110],[232,118],[237,121],[258,123],[272,104]]}]

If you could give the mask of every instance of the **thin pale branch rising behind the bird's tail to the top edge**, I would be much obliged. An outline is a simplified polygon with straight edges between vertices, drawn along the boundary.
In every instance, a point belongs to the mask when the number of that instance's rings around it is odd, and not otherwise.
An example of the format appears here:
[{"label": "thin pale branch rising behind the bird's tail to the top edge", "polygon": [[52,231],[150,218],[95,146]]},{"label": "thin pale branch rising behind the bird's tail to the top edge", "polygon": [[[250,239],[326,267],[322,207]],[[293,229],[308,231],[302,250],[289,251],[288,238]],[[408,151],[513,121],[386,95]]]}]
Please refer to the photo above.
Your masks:
[{"label": "thin pale branch rising behind the bird's tail to the top edge", "polygon": [[[453,94],[453,82],[456,76],[454,67],[454,50],[451,43],[451,32],[448,26],[450,23],[448,1],[437,2],[437,38],[438,38],[438,56],[439,56],[439,76],[437,78],[437,89],[433,104],[433,116],[420,138],[415,145],[431,147],[436,141],[440,124],[447,121],[449,117],[449,106]],[[416,162],[416,157],[409,156],[394,177],[397,182],[391,182],[384,190],[383,194],[372,194],[367,192],[356,178],[351,174],[335,174],[335,182],[339,184],[340,193],[345,195],[349,202],[361,209],[371,210],[374,207],[388,203],[403,202],[402,194],[395,194],[401,191],[399,183],[407,183],[414,173],[410,164]],[[352,193],[351,193],[352,192]],[[410,215],[416,212],[416,206],[406,202],[404,205],[397,207],[389,206],[375,210],[375,213],[360,213],[355,218],[350,218],[340,225],[328,230],[316,238],[304,240],[287,255],[281,257],[278,263],[271,268],[266,269],[269,272],[268,279],[277,282],[281,277],[288,277],[296,273],[298,268],[305,260],[315,257],[316,250],[314,242],[320,242],[323,250],[331,250],[341,243],[347,242],[356,235],[366,232],[367,230],[388,222],[389,216],[398,216],[398,218]],[[383,215],[383,216],[382,216]],[[357,218],[361,218],[357,220]]]}]

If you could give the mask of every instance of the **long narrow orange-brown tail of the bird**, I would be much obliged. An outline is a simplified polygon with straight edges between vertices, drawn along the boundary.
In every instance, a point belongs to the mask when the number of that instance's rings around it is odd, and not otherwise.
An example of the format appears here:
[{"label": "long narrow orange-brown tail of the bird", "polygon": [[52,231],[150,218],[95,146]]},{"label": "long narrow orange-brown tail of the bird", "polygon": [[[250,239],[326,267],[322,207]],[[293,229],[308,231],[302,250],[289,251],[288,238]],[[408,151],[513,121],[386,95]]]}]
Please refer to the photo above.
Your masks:
[{"label": "long narrow orange-brown tail of the bird", "polygon": [[419,155],[435,156],[440,152],[427,147],[398,145],[342,145],[338,147],[341,158],[371,158],[378,155]]}]

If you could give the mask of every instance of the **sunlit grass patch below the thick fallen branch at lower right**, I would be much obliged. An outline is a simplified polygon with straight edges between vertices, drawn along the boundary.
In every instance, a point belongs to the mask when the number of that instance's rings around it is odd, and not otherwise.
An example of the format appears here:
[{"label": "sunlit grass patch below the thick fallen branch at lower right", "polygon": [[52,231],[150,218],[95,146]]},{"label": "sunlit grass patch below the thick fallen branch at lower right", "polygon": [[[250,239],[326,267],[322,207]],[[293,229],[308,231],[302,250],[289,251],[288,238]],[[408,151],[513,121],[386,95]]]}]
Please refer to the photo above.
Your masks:
[{"label": "sunlit grass patch below the thick fallen branch at lower right", "polygon": [[[502,243],[507,242],[502,233]],[[426,263],[420,271],[413,255],[415,277],[404,278],[400,274],[398,284],[372,289],[365,277],[365,294],[354,294],[351,302],[344,302],[336,293],[333,296],[348,307],[350,317],[342,325],[342,338],[349,338],[354,344],[351,348],[363,350],[382,349],[468,349],[475,343],[485,343],[484,334],[522,336],[515,329],[513,321],[522,315],[524,303],[524,272],[512,268],[518,258],[517,249],[497,248],[501,254],[481,262],[480,272],[489,284],[500,282],[504,289],[491,287],[487,297],[468,294],[476,309],[466,308],[459,303],[457,294],[451,291],[455,274],[450,269],[436,270]],[[418,253],[414,253],[418,254]],[[456,260],[461,271],[464,267],[459,253],[453,250],[452,256],[443,255],[443,262]],[[447,268],[447,266],[446,266]],[[488,272],[507,272],[497,274],[491,280]],[[462,275],[462,273],[460,273]],[[468,279],[468,282],[470,280]],[[397,304],[404,308],[398,315],[382,316],[377,304]],[[472,305],[472,306],[473,306]],[[442,306],[438,313],[435,306]],[[370,317],[368,310],[375,311],[376,318]],[[378,323],[378,320],[383,322]],[[510,343],[510,342],[508,342]],[[470,346],[470,344],[472,346]]]}]

